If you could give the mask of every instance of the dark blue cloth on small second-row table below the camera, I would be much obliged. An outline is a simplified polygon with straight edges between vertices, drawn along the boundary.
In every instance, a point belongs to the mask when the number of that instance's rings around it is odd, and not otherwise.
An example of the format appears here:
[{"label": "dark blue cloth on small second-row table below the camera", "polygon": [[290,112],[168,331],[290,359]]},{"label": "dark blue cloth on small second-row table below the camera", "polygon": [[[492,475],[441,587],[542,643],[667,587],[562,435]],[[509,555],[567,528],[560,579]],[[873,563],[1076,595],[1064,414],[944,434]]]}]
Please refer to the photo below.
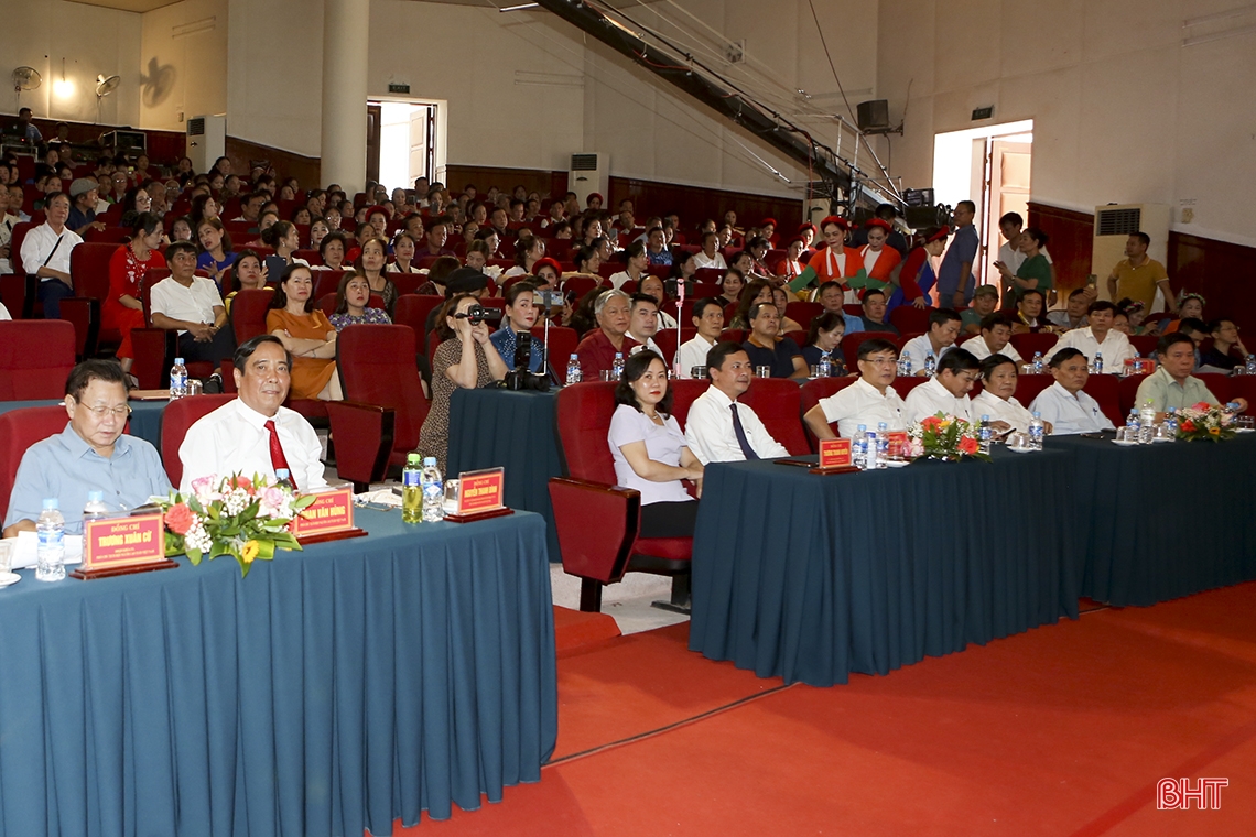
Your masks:
[{"label": "dark blue cloth on small second-row table below the camera", "polygon": [[561,561],[549,498],[550,477],[563,476],[555,410],[558,394],[456,389],[450,402],[450,476],[506,469],[506,504],[545,518],[550,560]]}]

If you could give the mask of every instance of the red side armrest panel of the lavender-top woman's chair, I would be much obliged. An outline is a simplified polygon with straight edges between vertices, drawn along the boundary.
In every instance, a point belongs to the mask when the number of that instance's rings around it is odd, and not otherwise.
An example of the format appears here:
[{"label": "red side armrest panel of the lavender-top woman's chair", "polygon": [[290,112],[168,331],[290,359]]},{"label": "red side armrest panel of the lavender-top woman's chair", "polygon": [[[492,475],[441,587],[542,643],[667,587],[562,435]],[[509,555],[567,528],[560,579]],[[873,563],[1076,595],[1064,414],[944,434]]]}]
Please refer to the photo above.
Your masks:
[{"label": "red side armrest panel of the lavender-top woman's chair", "polygon": [[563,568],[579,578],[619,581],[641,528],[641,492],[568,477],[551,478],[549,492]]}]

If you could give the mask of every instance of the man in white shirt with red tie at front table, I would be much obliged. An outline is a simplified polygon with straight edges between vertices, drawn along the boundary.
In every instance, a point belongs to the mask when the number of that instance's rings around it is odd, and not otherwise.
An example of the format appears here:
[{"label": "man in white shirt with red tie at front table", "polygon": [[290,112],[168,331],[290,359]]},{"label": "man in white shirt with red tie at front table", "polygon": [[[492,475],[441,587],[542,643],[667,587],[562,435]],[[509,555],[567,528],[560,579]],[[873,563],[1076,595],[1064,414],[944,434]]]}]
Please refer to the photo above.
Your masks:
[{"label": "man in white shirt with red tie at front table", "polygon": [[180,491],[193,479],[254,473],[274,477],[286,469],[300,491],[327,486],[322,447],[305,418],[286,407],[291,355],[279,338],[263,334],[235,353],[239,398],[187,429],[178,458],[183,463]]}]

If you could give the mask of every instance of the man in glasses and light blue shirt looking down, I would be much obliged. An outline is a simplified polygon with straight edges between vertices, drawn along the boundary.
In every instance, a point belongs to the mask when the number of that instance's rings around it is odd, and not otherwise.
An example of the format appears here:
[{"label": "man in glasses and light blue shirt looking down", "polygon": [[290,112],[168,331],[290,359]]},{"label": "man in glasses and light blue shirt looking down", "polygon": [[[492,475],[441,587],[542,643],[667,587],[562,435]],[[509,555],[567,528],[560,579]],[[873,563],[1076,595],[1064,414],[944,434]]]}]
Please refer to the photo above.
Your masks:
[{"label": "man in glasses and light blue shirt looking down", "polygon": [[127,376],[113,360],[84,360],[65,381],[69,424],[26,449],[18,466],[4,536],[35,531],[46,497],[55,497],[65,531],[83,530],[83,506],[90,491],[104,494],[109,511],[142,506],[153,494],[170,493],[170,479],[157,449],[124,435],[131,408]]}]

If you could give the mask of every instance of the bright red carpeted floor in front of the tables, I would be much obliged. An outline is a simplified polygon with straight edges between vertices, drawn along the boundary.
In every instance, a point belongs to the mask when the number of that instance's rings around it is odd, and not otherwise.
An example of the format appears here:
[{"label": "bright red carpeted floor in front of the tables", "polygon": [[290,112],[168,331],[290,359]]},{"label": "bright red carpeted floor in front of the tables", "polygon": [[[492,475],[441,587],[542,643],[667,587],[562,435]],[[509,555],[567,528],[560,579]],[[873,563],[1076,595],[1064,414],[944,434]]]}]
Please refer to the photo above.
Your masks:
[{"label": "bright red carpeted floor in front of the tables", "polygon": [[[559,747],[462,834],[1251,834],[1256,584],[785,688],[685,649],[686,626],[559,660]],[[1226,777],[1157,811],[1162,777]]]}]

